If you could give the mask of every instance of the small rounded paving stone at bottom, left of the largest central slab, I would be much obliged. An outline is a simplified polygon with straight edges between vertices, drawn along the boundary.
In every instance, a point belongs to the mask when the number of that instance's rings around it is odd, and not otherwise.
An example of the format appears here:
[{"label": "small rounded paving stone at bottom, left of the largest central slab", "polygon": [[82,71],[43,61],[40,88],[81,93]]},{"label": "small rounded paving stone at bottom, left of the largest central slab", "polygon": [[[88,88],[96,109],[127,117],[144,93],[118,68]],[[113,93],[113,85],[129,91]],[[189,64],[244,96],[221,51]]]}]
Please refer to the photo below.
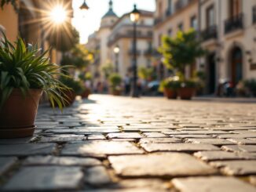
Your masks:
[{"label": "small rounded paving stone at bottom, left of the largest central slab", "polygon": [[93,186],[101,186],[112,183],[112,179],[108,175],[108,171],[102,166],[86,169],[85,175],[85,182],[90,183],[90,185]]}]

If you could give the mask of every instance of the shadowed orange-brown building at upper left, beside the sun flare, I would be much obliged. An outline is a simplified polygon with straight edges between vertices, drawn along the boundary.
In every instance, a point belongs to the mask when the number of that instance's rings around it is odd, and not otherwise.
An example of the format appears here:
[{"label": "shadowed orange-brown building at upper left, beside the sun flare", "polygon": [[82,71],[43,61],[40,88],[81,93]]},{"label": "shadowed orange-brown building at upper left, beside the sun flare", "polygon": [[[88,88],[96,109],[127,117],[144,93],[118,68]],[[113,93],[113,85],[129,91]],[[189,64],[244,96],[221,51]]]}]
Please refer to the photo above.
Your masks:
[{"label": "shadowed orange-brown building at upper left, beside the sun flare", "polygon": [[[62,1],[37,1],[17,0],[19,11],[13,9],[13,5],[4,5],[0,9],[0,31],[3,31],[11,42],[16,40],[18,34],[27,43],[37,43],[42,49],[49,49],[47,33],[50,33],[49,14],[54,5],[63,5],[68,16],[66,22],[71,24],[73,15],[71,0]],[[53,63],[60,63],[61,53],[52,50],[51,59]]]}]

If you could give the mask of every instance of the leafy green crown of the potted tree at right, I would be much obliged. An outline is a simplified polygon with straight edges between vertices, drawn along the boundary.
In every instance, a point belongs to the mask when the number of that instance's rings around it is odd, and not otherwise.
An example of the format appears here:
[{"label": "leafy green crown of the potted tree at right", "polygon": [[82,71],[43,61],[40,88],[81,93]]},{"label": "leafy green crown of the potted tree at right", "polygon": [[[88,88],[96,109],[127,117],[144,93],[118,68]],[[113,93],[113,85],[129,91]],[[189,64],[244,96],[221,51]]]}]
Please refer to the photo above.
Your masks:
[{"label": "leafy green crown of the potted tree at right", "polygon": [[184,74],[186,65],[192,65],[197,57],[206,53],[194,30],[179,31],[175,38],[164,37],[163,46],[159,48],[159,52],[163,54],[166,67],[176,69],[181,74]]}]

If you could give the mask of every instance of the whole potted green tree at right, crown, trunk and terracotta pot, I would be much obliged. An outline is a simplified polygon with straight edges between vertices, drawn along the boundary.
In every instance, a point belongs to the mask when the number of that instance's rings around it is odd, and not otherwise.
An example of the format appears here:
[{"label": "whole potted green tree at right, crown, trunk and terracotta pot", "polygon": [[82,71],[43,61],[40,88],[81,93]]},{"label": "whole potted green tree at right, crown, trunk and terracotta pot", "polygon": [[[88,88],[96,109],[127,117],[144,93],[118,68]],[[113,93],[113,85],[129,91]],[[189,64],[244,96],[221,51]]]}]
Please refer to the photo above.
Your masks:
[{"label": "whole potted green tree at right, crown, trunk and terracotta pot", "polygon": [[[178,76],[182,77],[180,78],[182,86],[178,91],[181,99],[191,99],[196,91],[196,83],[191,78],[185,78],[185,68],[189,65],[192,66],[196,63],[196,58],[206,53],[196,37],[196,31],[179,31],[176,38],[164,37],[163,46],[159,52],[163,54],[163,63],[166,67],[177,71],[177,74],[180,74]],[[183,95],[183,93],[186,94]]]}]

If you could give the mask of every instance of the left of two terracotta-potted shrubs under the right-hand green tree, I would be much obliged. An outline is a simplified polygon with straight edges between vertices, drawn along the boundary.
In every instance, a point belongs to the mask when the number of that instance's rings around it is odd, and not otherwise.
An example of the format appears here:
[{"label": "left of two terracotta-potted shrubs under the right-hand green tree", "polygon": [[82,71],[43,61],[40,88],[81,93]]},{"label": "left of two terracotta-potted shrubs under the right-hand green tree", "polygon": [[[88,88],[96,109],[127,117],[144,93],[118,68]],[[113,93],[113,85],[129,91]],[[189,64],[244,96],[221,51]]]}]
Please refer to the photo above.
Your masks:
[{"label": "left of two terracotta-potted shrubs under the right-hand green tree", "polygon": [[164,93],[164,96],[168,99],[177,99],[177,89],[181,87],[181,82],[177,76],[173,78],[166,78],[160,84],[160,91]]}]

